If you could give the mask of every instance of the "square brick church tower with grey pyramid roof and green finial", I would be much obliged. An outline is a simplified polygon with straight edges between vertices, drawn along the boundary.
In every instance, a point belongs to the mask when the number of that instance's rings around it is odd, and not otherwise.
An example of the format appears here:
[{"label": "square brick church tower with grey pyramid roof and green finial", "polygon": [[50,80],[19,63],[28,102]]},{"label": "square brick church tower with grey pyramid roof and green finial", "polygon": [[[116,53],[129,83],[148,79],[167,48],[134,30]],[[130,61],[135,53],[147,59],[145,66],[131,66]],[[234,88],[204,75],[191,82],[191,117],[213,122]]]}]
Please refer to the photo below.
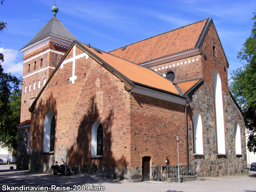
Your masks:
[{"label": "square brick church tower with grey pyramid roof and green finial", "polygon": [[20,51],[23,53],[23,83],[20,122],[30,119],[28,108],[76,37],[53,17]]}]

